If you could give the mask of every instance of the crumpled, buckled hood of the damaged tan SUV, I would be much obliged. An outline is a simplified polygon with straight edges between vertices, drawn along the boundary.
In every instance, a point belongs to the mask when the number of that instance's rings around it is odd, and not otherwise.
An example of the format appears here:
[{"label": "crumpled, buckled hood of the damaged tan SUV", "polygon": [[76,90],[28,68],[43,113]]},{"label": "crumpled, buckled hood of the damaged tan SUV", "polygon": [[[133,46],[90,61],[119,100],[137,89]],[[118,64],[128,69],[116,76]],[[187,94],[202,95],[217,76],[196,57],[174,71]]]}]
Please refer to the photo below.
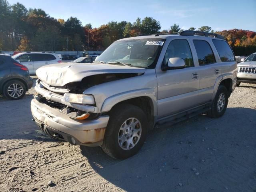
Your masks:
[{"label": "crumpled, buckled hood of the damaged tan SUV", "polygon": [[79,82],[84,77],[106,73],[139,73],[144,68],[99,63],[62,63],[40,67],[36,75],[40,80],[51,86],[64,86],[70,82]]}]

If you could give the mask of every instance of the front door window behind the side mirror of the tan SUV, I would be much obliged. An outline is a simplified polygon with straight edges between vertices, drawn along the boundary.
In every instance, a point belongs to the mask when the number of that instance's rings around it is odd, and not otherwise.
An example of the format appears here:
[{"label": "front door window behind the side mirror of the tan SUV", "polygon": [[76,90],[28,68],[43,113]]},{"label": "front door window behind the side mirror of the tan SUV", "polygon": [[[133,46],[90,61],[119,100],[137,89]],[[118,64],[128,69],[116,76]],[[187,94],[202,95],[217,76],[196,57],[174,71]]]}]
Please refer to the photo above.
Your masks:
[{"label": "front door window behind the side mirror of the tan SUV", "polygon": [[172,40],[164,55],[164,64],[167,65],[169,58],[179,57],[184,59],[185,67],[193,67],[193,58],[190,46],[186,39]]}]

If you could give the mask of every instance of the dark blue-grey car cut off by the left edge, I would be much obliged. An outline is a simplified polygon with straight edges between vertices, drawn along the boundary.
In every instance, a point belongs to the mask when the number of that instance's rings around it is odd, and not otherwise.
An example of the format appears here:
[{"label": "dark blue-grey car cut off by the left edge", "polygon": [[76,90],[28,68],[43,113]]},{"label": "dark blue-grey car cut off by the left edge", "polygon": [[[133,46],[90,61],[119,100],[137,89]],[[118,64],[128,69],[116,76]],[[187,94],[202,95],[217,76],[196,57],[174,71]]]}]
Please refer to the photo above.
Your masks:
[{"label": "dark blue-grey car cut off by the left edge", "polygon": [[10,55],[0,54],[0,94],[10,100],[22,98],[33,85],[28,68]]}]

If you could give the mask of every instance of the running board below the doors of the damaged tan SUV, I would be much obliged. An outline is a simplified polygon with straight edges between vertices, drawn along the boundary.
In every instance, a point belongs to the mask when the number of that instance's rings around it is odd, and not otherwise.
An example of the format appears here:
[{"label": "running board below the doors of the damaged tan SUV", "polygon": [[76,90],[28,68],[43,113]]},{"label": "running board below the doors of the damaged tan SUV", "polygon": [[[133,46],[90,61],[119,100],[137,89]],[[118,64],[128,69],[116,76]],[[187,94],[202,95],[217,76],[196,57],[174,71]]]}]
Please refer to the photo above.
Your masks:
[{"label": "running board below the doors of the damaged tan SUV", "polygon": [[194,116],[200,115],[208,110],[210,110],[212,102],[202,104],[200,106],[196,106],[194,108],[190,108],[188,110],[184,110],[182,112],[172,114],[157,120],[156,125],[158,126],[170,126],[172,124],[176,124],[180,121],[184,121],[186,119],[192,118]]}]

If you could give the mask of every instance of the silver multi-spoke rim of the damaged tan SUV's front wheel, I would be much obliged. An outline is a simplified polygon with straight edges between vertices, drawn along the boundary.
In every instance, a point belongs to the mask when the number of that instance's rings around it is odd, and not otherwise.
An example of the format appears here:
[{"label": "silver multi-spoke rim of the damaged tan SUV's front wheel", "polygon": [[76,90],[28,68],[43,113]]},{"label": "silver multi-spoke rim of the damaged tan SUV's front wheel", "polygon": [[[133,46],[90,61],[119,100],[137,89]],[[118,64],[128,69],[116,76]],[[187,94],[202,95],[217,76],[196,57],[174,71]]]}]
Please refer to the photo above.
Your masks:
[{"label": "silver multi-spoke rim of the damaged tan SUV's front wheel", "polygon": [[130,150],[138,143],[141,136],[141,123],[137,118],[125,120],[119,129],[118,144],[123,150]]}]

